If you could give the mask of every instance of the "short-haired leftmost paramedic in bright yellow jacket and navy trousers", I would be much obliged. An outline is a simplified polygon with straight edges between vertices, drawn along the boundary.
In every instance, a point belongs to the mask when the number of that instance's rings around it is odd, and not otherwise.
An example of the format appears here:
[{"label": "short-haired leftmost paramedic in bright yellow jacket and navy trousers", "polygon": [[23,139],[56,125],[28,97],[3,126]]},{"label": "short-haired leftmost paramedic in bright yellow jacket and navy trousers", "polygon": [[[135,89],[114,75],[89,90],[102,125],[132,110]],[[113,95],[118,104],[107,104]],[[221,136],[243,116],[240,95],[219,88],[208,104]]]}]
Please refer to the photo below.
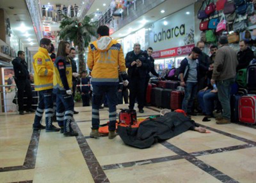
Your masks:
[{"label": "short-haired leftmost paramedic in bright yellow jacket and navy trousers", "polygon": [[[35,90],[39,94],[39,103],[37,111],[35,112],[35,119],[33,124],[34,130],[45,129],[46,132],[60,131],[59,128],[52,125],[53,116],[53,63],[49,56],[51,49],[51,41],[47,38],[42,38],[38,52],[33,57],[34,68],[34,84]],[[45,124],[41,125],[40,121],[45,109]]]}]

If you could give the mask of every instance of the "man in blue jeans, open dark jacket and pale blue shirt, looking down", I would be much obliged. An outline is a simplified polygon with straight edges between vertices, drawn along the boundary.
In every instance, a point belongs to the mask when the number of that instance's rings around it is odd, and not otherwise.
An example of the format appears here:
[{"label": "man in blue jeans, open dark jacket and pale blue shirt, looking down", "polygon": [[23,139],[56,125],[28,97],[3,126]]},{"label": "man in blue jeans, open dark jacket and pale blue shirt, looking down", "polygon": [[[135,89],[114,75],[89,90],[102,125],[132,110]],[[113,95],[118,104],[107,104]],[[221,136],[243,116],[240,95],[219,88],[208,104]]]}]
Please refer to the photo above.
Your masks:
[{"label": "man in blue jeans, open dark jacket and pale blue shirt, looking down", "polygon": [[191,108],[197,94],[197,81],[199,79],[198,56],[202,53],[199,47],[193,47],[191,54],[184,58],[180,63],[180,85],[185,87],[185,97],[182,102],[182,110],[187,115],[196,115],[192,113]]}]

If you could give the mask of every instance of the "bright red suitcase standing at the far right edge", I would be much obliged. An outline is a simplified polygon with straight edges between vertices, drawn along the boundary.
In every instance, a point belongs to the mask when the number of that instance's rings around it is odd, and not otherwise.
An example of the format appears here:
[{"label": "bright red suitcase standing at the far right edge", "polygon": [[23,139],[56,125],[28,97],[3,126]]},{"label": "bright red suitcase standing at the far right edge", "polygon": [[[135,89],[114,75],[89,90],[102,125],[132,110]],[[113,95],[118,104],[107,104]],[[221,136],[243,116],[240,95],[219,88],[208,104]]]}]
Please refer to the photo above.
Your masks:
[{"label": "bright red suitcase standing at the far right edge", "polygon": [[239,121],[242,123],[256,123],[256,95],[242,96],[238,104]]}]

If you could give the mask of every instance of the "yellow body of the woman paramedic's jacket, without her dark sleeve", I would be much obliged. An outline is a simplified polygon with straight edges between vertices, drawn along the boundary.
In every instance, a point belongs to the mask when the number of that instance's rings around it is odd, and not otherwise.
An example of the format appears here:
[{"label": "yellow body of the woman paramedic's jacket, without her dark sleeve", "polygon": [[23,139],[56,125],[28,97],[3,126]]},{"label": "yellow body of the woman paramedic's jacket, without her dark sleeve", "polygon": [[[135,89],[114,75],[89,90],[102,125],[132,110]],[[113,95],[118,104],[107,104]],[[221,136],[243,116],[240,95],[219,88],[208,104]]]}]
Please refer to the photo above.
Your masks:
[{"label": "yellow body of the woman paramedic's jacket, without her dark sleeve", "polygon": [[[59,70],[57,68],[57,65],[59,64],[59,61],[63,61],[64,65],[63,68],[65,68],[66,78],[68,82],[68,88],[65,88],[60,77]],[[72,63],[71,60],[66,57],[57,57],[54,61],[54,75],[53,75],[53,90],[54,93],[62,93],[66,94],[66,91],[70,89],[72,90]]]}]

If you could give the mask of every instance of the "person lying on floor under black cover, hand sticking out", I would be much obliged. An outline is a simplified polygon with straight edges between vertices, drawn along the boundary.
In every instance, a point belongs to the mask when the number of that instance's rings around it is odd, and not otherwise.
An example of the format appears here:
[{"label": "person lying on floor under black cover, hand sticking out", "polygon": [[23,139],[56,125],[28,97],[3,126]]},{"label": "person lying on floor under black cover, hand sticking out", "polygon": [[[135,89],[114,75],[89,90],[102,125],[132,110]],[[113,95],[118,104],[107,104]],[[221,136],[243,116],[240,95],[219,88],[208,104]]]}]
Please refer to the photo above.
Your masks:
[{"label": "person lying on floor under black cover, hand sticking out", "polygon": [[173,138],[188,130],[207,133],[206,129],[195,121],[176,111],[155,119],[147,119],[141,122],[139,127],[118,125],[117,132],[125,144],[144,149],[155,142]]}]

